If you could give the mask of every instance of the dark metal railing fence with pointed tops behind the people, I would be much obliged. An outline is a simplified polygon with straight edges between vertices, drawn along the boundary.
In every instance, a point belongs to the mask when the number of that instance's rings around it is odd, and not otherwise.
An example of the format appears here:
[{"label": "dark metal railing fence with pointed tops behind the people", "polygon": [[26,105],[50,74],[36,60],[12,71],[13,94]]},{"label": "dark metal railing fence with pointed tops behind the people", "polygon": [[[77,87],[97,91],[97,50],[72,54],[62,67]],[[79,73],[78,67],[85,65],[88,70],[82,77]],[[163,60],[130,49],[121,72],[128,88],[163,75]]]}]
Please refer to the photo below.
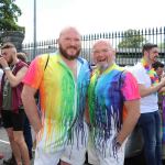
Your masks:
[{"label": "dark metal railing fence with pointed tops behind the people", "polygon": [[[160,61],[165,62],[165,26],[145,30],[128,30],[124,32],[88,34],[81,36],[81,56],[92,63],[91,47],[99,40],[109,40],[117,51],[117,64],[133,65],[141,57],[141,47],[144,43],[154,43],[160,47]],[[34,50],[36,47],[36,50]],[[44,53],[53,53],[58,48],[57,40],[50,40],[23,45],[23,51],[29,54],[29,59]]]}]

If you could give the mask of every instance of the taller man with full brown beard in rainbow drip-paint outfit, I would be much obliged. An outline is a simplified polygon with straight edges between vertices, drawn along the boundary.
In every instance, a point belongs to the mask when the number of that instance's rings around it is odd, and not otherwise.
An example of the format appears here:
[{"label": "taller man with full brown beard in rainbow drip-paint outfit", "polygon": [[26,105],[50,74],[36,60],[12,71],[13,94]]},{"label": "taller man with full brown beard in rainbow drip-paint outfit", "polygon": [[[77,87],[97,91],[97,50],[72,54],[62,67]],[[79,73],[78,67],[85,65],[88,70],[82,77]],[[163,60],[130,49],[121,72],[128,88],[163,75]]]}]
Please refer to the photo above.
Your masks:
[{"label": "taller man with full brown beard in rainbow drip-paint outfit", "polygon": [[[84,124],[90,69],[79,57],[81,36],[75,28],[64,29],[58,51],[35,57],[23,80],[22,100],[36,133],[34,165],[82,165],[88,133]],[[41,118],[35,103],[40,90]]]}]

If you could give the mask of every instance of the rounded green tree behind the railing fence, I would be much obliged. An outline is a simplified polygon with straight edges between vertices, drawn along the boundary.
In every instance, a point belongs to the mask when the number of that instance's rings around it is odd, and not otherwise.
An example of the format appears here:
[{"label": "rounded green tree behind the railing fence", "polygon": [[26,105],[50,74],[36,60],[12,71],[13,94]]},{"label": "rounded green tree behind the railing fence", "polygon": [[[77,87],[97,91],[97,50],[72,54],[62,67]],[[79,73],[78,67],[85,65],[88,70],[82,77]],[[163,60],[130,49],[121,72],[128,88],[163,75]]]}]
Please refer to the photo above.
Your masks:
[{"label": "rounded green tree behind the railing fence", "polygon": [[119,48],[139,48],[146,42],[145,37],[136,30],[125,31],[122,37],[122,41],[118,44]]}]

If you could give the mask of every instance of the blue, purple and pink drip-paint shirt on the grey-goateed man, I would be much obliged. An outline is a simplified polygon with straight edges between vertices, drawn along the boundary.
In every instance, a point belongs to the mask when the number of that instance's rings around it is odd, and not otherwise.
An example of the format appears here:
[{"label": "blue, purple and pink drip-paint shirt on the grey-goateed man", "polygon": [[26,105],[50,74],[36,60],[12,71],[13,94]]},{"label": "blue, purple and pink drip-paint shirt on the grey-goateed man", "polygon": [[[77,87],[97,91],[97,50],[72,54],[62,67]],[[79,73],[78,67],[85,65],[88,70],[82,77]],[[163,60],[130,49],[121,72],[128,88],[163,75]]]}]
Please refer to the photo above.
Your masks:
[{"label": "blue, purple and pink drip-paint shirt on the grey-goateed man", "polygon": [[[91,135],[100,150],[120,131],[124,101],[140,98],[135,78],[113,64],[101,75],[94,70],[88,88]],[[97,147],[97,146],[96,146]],[[110,148],[109,148],[110,150]]]}]

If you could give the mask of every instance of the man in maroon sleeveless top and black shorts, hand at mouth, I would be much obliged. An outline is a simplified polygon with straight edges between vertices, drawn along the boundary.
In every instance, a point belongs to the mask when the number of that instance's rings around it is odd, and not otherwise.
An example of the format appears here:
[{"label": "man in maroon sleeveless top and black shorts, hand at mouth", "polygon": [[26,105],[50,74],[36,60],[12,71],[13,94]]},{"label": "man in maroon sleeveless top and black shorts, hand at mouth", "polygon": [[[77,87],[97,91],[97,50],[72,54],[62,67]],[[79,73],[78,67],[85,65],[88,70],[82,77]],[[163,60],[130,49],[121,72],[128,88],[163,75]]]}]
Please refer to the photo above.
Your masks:
[{"label": "man in maroon sleeveless top and black shorts, hand at mouth", "polygon": [[[12,43],[2,45],[0,65],[3,69],[0,95],[3,125],[16,165],[30,165],[29,151],[23,135],[25,113],[21,100],[22,79],[28,70],[28,65],[18,58],[16,48]],[[6,161],[3,163],[9,164]]]}]

